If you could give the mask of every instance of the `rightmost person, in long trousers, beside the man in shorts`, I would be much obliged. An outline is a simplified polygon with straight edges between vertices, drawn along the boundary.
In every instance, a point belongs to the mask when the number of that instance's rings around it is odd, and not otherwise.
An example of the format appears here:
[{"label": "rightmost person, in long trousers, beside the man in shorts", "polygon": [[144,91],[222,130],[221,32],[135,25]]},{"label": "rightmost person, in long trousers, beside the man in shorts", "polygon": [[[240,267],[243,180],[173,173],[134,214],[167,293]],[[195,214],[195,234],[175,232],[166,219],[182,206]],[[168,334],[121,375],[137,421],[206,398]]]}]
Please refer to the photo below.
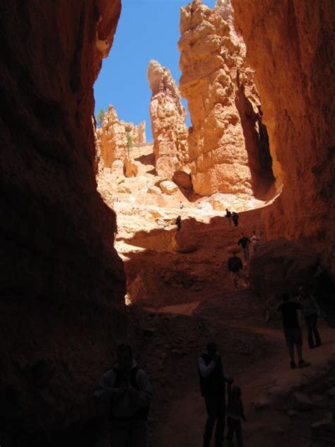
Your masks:
[{"label": "rightmost person, in long trousers, beside the man in shorts", "polygon": [[305,286],[300,286],[298,299],[302,304],[302,315],[304,315],[307,325],[308,346],[310,349],[317,348],[321,345],[321,338],[317,330],[317,318],[320,316],[319,304]]}]

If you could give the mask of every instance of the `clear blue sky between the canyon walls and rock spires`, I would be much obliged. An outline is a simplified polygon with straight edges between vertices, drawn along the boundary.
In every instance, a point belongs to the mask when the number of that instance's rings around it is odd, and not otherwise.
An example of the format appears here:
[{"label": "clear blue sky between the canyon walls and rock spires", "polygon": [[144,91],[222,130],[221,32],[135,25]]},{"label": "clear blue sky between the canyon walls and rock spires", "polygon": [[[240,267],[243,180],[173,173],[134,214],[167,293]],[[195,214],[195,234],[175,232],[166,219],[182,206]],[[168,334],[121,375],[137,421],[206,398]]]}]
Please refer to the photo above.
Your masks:
[{"label": "clear blue sky between the canyon walls and rock spires", "polygon": [[[203,2],[213,8],[216,0]],[[107,110],[108,104],[112,104],[121,120],[134,124],[145,120],[147,139],[152,141],[151,90],[146,69],[149,61],[156,59],[170,69],[179,84],[180,8],[188,3],[188,0],[122,0],[112,50],[103,60],[94,86],[95,113],[100,108]]]}]

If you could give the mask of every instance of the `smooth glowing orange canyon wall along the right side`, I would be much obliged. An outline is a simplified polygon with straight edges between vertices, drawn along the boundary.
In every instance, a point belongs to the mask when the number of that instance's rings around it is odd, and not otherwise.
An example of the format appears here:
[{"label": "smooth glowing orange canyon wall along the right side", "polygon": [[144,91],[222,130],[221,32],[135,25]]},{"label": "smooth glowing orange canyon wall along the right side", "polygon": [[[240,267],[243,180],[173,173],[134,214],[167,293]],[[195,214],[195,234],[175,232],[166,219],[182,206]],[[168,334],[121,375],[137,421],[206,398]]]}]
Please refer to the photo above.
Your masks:
[{"label": "smooth glowing orange canyon wall along the right side", "polygon": [[268,236],[307,238],[335,272],[334,23],[331,0],[233,0],[283,192]]}]

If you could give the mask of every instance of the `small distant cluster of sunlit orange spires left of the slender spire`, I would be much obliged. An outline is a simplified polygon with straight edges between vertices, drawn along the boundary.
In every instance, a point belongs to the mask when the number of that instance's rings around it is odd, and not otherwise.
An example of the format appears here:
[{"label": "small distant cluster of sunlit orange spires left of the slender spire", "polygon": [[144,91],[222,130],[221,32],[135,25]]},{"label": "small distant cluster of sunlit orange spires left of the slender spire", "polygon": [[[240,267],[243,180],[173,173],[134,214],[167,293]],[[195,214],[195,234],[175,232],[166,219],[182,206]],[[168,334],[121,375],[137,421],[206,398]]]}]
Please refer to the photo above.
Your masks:
[{"label": "small distant cluster of sunlit orange spires left of the slender spire", "polygon": [[122,161],[124,173],[131,177],[136,168],[131,159],[130,149],[133,144],[146,143],[146,122],[142,121],[138,126],[134,126],[132,122],[119,120],[117,111],[109,105],[96,135],[104,166],[119,170],[119,161]]}]

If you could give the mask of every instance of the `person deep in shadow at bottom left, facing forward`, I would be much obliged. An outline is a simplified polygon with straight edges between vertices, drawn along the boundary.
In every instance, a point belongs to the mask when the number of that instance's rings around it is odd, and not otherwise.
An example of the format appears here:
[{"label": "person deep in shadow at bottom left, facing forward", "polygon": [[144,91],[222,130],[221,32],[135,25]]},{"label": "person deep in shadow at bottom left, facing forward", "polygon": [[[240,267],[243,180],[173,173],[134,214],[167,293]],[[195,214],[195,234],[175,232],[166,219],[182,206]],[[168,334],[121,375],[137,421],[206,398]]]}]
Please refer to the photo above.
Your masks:
[{"label": "person deep in shadow at bottom left, facing forward", "polygon": [[117,361],[98,383],[95,396],[107,404],[112,447],[146,447],[146,419],[153,390],[133,359],[129,344],[120,344]]}]

